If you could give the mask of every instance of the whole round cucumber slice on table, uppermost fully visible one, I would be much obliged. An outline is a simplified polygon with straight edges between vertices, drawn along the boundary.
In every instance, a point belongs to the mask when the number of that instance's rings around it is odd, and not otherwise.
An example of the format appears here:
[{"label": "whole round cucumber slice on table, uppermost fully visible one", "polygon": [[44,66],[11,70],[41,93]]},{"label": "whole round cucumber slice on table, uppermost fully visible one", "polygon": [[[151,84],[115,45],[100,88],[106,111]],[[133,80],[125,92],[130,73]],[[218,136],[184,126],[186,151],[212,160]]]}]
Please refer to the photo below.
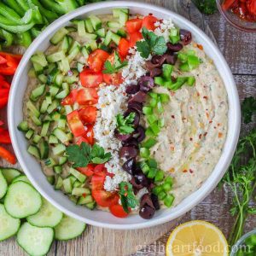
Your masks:
[{"label": "whole round cucumber slice on table, uppermost fully visible one", "polygon": [[12,183],[4,198],[5,210],[14,218],[35,214],[41,205],[41,195],[32,185],[23,181]]}]

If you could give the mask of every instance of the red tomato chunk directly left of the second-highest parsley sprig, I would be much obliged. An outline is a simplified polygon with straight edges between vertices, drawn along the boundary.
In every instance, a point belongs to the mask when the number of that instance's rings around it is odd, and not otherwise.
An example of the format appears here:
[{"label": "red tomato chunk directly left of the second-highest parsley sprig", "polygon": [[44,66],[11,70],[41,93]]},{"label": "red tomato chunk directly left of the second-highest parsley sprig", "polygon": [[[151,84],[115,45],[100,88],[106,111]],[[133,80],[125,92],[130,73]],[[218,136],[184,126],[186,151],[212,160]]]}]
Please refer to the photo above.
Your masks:
[{"label": "red tomato chunk directly left of the second-highest parsley sprig", "polygon": [[88,65],[94,72],[102,71],[104,62],[108,59],[108,52],[103,49],[96,49],[88,57]]}]

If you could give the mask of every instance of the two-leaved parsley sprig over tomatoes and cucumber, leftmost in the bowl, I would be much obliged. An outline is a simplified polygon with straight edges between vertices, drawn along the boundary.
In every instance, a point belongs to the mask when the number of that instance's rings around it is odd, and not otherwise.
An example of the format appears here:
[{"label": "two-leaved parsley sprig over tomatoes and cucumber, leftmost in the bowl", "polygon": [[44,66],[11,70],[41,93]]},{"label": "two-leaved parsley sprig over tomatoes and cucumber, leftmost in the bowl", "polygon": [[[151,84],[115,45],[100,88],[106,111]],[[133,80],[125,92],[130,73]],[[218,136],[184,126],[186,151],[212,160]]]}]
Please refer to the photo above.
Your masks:
[{"label": "two-leaved parsley sprig over tomatoes and cucumber, leftmost in the bowl", "polygon": [[110,153],[105,153],[104,148],[94,144],[92,147],[88,143],[71,145],[66,149],[67,159],[73,163],[73,167],[86,167],[89,163],[103,164],[111,158]]}]

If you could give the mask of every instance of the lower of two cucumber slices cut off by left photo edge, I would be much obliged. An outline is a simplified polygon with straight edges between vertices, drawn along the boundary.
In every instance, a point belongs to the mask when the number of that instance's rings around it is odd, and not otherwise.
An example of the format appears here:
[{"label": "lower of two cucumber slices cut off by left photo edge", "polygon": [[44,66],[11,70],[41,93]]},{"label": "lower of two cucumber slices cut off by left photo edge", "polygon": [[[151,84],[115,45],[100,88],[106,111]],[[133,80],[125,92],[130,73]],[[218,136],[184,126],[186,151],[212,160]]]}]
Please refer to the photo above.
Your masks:
[{"label": "lower of two cucumber slices cut off by left photo edge", "polygon": [[3,241],[17,233],[20,228],[20,219],[9,216],[3,205],[0,204],[0,224],[0,241]]}]

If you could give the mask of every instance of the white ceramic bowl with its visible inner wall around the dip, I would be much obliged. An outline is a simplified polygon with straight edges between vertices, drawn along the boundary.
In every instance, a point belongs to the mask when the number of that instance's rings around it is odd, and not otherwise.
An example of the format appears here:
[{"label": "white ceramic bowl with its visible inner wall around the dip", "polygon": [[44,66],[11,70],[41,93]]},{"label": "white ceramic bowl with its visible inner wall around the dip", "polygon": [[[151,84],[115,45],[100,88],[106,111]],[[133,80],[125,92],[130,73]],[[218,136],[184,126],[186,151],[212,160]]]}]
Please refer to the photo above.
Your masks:
[{"label": "white ceramic bowl with its visible inner wall around the dip", "polygon": [[[188,29],[192,32],[195,41],[203,45],[207,55],[212,58],[218,68],[218,72],[224,80],[224,85],[229,97],[230,111],[228,136],[224,145],[223,154],[218,160],[218,164],[215,166],[211,176],[207,178],[207,181],[202,184],[200,189],[195,191],[192,195],[189,195],[177,207],[161,209],[156,212],[154,218],[150,220],[140,218],[138,215],[131,215],[128,218],[115,218],[109,212],[102,212],[98,210],[90,211],[85,207],[74,205],[72,201],[69,201],[67,196],[63,195],[60,191],[55,191],[47,182],[38,162],[26,152],[27,143],[24,134],[17,131],[16,128],[22,120],[23,96],[26,90],[27,72],[31,67],[29,60],[32,54],[37,50],[44,51],[47,49],[49,46],[49,38],[51,38],[52,35],[62,26],[66,26],[69,20],[82,18],[90,14],[108,14],[111,13],[113,8],[122,7],[129,8],[133,14],[148,15],[148,13],[152,13],[160,19],[172,18],[177,26]],[[55,207],[59,208],[62,212],[67,213],[73,218],[78,218],[87,224],[118,230],[131,230],[152,227],[180,217],[183,213],[188,212],[192,207],[195,207],[196,204],[201,202],[212,191],[212,189],[216,187],[220,179],[223,177],[224,172],[230,165],[230,160],[232,159],[236,148],[240,131],[240,103],[237,95],[236,84],[223,55],[221,55],[216,45],[207,38],[207,35],[189,22],[189,20],[186,20],[182,16],[167,9],[162,9],[146,3],[103,2],[84,6],[62,16],[60,19],[55,20],[55,22],[48,26],[48,28],[33,41],[32,45],[26,50],[26,54],[20,61],[20,66],[18,67],[15,73],[15,78],[13,79],[9,96],[8,119],[10,136],[20,165],[35,188],[38,189],[38,191],[48,201],[55,205]]]}]

